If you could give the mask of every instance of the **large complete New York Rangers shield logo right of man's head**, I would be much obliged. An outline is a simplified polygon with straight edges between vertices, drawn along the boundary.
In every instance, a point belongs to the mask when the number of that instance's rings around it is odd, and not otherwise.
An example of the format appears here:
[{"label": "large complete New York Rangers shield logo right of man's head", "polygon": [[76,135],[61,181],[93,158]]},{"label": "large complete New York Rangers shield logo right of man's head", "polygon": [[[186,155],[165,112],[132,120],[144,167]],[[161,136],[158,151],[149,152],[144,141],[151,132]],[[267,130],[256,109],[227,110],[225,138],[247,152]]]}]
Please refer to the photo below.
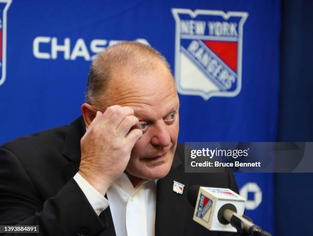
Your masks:
[{"label": "large complete New York Rangers shield logo right of man's head", "polygon": [[182,95],[235,97],[241,90],[247,12],[172,9],[176,21],[175,82]]}]

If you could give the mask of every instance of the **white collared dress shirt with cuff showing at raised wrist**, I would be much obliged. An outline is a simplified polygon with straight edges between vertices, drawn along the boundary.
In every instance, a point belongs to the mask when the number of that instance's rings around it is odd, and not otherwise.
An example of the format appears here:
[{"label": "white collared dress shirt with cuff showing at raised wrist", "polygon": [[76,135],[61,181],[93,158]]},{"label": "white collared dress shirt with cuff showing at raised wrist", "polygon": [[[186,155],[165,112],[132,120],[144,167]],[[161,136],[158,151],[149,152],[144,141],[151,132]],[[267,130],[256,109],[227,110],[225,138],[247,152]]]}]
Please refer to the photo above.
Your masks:
[{"label": "white collared dress shirt with cuff showing at raised wrist", "polygon": [[99,216],[110,206],[117,236],[154,236],[157,184],[154,180],[141,181],[134,188],[123,173],[107,190],[108,200],[79,173],[74,180]]}]

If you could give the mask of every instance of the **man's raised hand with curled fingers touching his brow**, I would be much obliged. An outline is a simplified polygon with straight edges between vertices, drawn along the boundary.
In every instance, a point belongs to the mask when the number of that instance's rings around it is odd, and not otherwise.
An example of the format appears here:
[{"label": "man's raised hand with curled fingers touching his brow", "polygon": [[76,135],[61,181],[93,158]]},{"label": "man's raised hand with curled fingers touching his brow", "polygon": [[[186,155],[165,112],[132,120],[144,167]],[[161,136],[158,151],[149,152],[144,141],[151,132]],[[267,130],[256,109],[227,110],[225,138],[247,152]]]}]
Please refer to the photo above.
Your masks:
[{"label": "man's raised hand with curled fingers touching his brow", "polygon": [[[100,194],[124,172],[130,152],[142,136],[131,107],[111,106],[96,117],[81,138],[79,174]],[[130,131],[130,132],[129,132]]]}]

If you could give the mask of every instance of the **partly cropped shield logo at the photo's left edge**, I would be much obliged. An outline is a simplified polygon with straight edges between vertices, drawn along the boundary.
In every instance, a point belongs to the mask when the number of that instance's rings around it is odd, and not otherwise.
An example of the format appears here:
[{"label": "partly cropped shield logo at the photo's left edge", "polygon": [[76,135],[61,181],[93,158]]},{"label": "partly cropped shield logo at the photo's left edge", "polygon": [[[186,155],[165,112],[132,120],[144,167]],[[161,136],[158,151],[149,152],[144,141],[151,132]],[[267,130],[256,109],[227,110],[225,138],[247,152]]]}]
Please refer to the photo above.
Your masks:
[{"label": "partly cropped shield logo at the photo's left edge", "polygon": [[11,2],[11,0],[0,0],[0,85],[6,79],[7,11]]}]

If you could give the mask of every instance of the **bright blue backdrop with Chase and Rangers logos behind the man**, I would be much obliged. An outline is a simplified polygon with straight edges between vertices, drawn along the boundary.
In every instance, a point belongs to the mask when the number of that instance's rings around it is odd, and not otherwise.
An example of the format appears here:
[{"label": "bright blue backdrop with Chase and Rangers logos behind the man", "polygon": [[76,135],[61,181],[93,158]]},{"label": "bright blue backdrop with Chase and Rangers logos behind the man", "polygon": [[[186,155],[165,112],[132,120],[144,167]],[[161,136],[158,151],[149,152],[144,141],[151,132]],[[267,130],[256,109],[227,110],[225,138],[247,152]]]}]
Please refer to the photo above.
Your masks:
[{"label": "bright blue backdrop with Chase and Rangers logos behind the man", "polygon": [[[79,116],[92,56],[120,40],[169,61],[181,142],[276,140],[279,0],[9,3],[0,3],[1,144]],[[236,179],[247,215],[274,234],[273,175]]]}]

